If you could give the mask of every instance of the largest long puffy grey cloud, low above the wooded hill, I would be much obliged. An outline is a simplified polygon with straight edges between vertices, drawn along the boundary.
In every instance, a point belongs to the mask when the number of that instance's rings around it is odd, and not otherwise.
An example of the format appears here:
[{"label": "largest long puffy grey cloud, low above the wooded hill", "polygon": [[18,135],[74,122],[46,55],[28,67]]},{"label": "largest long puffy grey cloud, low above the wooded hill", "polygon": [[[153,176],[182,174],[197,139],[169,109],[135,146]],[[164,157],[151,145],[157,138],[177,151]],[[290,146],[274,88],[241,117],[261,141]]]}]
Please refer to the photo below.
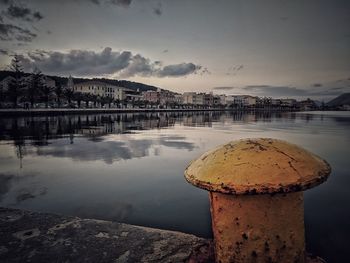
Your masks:
[{"label": "largest long puffy grey cloud, low above the wooded hill", "polygon": [[26,71],[40,68],[46,74],[74,74],[76,76],[119,75],[121,77],[157,76],[180,77],[207,73],[206,68],[193,63],[162,66],[130,51],[116,52],[106,47],[101,52],[71,50],[67,53],[37,50],[21,56]]}]

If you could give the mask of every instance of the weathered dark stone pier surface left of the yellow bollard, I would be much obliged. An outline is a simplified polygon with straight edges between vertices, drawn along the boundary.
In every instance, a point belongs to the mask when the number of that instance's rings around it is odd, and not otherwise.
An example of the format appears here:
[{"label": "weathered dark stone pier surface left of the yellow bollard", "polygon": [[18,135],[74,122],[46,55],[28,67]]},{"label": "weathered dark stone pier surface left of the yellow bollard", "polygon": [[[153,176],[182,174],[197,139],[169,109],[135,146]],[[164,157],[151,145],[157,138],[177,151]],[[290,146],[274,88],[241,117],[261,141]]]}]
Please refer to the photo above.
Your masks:
[{"label": "weathered dark stone pier surface left of the yellow bollard", "polygon": [[0,262],[213,262],[211,241],[175,231],[0,208]]}]

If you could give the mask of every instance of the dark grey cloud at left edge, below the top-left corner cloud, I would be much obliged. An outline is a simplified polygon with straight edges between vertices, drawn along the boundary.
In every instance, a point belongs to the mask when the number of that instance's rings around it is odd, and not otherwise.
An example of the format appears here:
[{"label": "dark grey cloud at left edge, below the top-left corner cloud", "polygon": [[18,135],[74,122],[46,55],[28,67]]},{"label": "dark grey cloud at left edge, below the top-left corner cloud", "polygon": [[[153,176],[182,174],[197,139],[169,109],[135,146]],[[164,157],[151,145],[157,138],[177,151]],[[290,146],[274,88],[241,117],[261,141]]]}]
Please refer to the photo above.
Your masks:
[{"label": "dark grey cloud at left edge, below the top-left corner cloud", "polygon": [[0,23],[0,39],[3,41],[18,40],[23,42],[30,42],[36,34],[28,29],[21,28],[12,24]]}]

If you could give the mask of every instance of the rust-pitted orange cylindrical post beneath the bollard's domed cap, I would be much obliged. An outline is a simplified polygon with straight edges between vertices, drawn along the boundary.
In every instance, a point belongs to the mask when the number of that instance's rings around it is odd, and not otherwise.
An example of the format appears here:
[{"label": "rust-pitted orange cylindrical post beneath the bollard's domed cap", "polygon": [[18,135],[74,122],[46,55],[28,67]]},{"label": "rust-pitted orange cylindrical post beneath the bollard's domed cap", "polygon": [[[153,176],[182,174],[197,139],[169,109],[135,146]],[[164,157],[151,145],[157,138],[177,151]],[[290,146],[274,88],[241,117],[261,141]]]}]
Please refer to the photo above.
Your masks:
[{"label": "rust-pitted orange cylindrical post beneath the bollard's domed cap", "polygon": [[210,192],[217,262],[305,262],[303,193]]}]

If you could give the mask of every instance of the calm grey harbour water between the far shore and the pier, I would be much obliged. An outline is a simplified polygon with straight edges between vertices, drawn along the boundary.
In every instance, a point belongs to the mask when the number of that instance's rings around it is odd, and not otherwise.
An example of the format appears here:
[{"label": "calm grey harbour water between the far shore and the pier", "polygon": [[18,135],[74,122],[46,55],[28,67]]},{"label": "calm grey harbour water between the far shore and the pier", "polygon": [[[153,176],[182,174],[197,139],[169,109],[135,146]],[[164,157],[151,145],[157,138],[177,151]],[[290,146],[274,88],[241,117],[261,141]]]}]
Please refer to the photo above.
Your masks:
[{"label": "calm grey harbour water between the far shore and the pier", "polygon": [[0,206],[211,237],[207,192],[190,160],[230,140],[272,137],[325,158],[305,193],[309,251],[345,262],[350,241],[350,112],[153,113],[0,119]]}]

